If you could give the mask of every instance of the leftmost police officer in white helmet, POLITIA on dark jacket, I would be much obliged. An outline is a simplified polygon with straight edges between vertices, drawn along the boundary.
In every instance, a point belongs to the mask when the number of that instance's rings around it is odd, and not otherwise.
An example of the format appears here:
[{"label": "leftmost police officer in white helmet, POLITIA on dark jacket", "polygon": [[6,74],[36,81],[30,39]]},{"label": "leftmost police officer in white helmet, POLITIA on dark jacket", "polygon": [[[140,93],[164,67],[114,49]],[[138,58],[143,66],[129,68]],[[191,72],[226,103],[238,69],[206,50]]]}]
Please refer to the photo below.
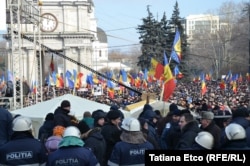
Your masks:
[{"label": "leftmost police officer in white helmet, POLITIA on dark jacket", "polygon": [[0,165],[45,165],[46,150],[32,135],[31,120],[19,116],[13,120],[11,140],[0,148]]}]

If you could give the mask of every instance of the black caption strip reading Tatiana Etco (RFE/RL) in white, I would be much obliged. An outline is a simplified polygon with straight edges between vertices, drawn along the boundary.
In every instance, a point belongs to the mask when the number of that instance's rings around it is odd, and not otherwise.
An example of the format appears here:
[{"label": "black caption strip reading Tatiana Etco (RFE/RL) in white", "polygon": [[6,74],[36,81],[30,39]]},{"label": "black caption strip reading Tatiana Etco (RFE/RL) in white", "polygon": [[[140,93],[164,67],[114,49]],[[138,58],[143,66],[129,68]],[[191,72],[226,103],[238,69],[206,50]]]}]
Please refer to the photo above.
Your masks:
[{"label": "black caption strip reading Tatiana Etco (RFE/RL) in white", "polygon": [[250,165],[250,151],[146,151],[146,165],[191,162],[195,165]]}]

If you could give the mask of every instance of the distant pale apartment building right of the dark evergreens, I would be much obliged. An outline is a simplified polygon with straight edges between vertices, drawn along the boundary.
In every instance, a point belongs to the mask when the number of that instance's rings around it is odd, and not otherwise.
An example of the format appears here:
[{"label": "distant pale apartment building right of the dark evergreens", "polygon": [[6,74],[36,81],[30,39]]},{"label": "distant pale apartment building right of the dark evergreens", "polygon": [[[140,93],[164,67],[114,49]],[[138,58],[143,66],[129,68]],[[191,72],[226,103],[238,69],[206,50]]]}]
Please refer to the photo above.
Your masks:
[{"label": "distant pale apartment building right of the dark evergreens", "polygon": [[220,29],[219,16],[211,14],[189,15],[186,17],[186,34],[192,40],[197,33],[216,33]]}]

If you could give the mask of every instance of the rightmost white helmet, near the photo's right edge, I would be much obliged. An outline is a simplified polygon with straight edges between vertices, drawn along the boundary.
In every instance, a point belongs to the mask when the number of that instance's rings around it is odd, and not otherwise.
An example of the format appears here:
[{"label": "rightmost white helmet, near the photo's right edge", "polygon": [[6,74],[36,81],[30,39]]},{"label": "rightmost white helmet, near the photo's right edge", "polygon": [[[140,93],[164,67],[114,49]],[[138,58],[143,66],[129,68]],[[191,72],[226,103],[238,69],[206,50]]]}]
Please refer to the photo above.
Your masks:
[{"label": "rightmost white helmet, near the photo's right edge", "polygon": [[226,136],[229,140],[238,140],[246,138],[245,129],[237,124],[231,123],[225,128]]}]

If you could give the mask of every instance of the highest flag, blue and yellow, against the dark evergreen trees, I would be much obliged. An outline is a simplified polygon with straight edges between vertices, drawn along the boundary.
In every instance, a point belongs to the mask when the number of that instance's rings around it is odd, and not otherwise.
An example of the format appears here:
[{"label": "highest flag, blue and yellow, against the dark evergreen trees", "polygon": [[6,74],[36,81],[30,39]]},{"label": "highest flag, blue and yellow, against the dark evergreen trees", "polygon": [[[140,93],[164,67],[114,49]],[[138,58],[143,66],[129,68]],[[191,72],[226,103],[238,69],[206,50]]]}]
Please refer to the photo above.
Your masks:
[{"label": "highest flag, blue and yellow, against the dark evergreen trees", "polygon": [[174,43],[171,52],[171,58],[176,62],[180,63],[181,60],[181,38],[178,29],[176,29]]}]

